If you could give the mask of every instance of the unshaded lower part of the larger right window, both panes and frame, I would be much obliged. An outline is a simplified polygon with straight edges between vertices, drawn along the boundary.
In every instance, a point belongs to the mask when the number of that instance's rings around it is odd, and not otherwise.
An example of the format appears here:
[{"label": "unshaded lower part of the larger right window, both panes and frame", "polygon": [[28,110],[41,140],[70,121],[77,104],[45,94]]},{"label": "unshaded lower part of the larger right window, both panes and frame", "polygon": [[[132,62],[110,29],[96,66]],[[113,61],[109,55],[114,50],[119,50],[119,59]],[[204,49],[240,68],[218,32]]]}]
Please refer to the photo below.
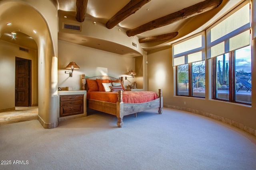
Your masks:
[{"label": "unshaded lower part of the larger right window, both panes and frame", "polygon": [[214,98],[230,102],[251,104],[252,66],[251,47],[231,51],[213,59]]}]

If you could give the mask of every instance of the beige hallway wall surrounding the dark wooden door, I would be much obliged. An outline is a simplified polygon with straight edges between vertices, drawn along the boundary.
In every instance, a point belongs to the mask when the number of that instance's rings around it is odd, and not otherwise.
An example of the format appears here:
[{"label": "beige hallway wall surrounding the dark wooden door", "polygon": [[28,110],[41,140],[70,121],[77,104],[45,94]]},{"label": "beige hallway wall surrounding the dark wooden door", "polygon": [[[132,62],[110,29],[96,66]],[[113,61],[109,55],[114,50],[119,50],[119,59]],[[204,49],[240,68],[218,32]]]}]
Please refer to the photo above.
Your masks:
[{"label": "beige hallway wall surrounding the dark wooden door", "polygon": [[29,53],[19,50],[18,45],[0,40],[0,110],[15,107],[15,57],[31,60],[32,65],[32,106],[38,105],[38,56],[37,51]]}]

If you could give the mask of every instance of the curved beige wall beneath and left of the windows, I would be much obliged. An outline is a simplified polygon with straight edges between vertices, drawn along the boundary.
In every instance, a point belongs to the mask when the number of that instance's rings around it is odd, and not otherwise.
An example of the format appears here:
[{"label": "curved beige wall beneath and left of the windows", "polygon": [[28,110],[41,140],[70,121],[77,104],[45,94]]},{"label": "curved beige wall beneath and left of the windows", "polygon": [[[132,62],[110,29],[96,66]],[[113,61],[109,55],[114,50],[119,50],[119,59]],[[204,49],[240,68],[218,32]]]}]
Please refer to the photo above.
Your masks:
[{"label": "curved beige wall beneath and left of the windows", "polygon": [[[209,81],[209,78],[211,78],[210,71],[206,71],[208,75],[206,75],[205,99],[175,96],[175,72],[172,67],[171,48],[148,53],[148,90],[158,92],[158,88],[162,88],[163,102],[166,106],[178,106],[212,113],[256,129],[256,94],[254,90],[256,89],[256,61],[254,50],[252,53],[252,66],[254,66],[252,69],[252,80],[254,80],[252,82],[252,106],[212,100],[210,91],[207,90],[212,88]],[[211,70],[210,66],[210,63],[206,63],[206,70]],[[184,102],[186,102],[186,105],[184,105]]]}]

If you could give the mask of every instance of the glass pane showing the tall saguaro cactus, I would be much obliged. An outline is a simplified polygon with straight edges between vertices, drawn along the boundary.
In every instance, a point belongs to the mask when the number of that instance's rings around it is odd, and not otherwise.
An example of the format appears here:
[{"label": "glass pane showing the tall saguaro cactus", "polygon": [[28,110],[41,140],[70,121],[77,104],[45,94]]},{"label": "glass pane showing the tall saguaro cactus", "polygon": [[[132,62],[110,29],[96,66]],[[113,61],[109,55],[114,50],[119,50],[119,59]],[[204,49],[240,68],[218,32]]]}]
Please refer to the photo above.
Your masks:
[{"label": "glass pane showing the tall saguaro cactus", "polygon": [[220,55],[216,57],[216,98],[229,100],[229,54]]}]

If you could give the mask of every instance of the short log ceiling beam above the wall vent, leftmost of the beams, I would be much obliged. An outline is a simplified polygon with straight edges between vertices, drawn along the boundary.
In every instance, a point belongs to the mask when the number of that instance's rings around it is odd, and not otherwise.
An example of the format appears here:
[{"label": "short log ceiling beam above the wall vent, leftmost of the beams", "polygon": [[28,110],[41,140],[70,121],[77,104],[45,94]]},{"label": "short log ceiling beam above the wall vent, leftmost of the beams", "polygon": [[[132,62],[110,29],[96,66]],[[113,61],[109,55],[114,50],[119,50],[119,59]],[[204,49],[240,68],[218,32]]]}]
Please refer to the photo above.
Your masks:
[{"label": "short log ceiling beam above the wall vent, leftmost of the beams", "polygon": [[88,0],[76,0],[76,20],[83,22],[85,19]]}]

